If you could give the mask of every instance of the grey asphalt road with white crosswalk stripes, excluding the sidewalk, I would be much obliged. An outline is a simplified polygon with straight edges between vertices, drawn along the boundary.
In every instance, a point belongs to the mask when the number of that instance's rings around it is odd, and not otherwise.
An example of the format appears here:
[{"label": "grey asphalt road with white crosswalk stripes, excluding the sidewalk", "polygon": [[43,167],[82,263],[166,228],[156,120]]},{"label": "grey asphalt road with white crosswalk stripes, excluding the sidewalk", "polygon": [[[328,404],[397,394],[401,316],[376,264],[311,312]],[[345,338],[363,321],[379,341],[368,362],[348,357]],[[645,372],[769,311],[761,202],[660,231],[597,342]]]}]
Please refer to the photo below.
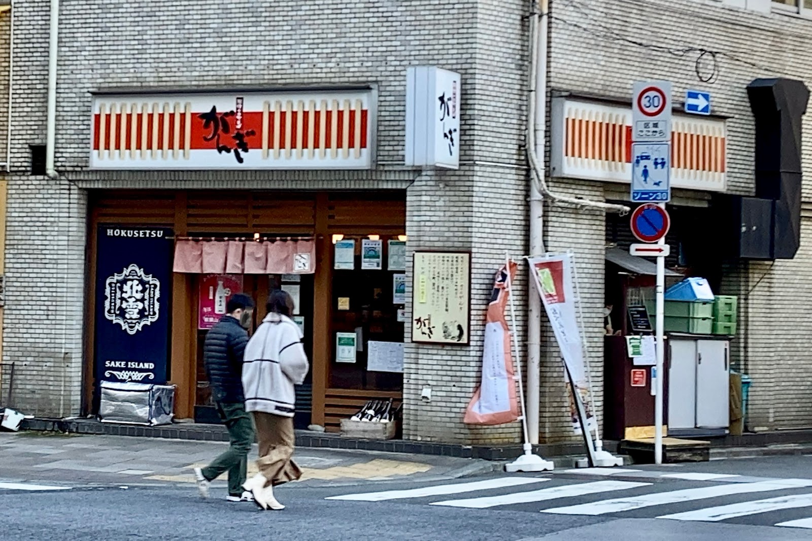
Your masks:
[{"label": "grey asphalt road with white crosswalk stripes, excluding the sidewalk", "polygon": [[[773,526],[812,517],[812,479],[720,479],[726,480],[627,472],[343,487],[300,483],[278,489],[287,504],[281,512],[227,503],[219,488],[204,501],[190,485],[25,491],[19,489],[28,483],[0,484],[0,539],[812,539],[810,529]],[[788,505],[796,507],[762,512]]]}]

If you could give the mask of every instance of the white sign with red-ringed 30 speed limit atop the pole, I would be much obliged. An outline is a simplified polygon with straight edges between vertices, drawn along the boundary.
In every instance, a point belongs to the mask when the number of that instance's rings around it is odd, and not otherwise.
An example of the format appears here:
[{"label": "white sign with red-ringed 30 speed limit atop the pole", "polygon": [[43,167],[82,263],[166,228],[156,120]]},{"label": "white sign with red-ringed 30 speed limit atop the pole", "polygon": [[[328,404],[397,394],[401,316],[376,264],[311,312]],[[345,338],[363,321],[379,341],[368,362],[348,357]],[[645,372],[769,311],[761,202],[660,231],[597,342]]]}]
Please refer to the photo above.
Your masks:
[{"label": "white sign with red-ringed 30 speed limit atop the pole", "polygon": [[638,81],[632,94],[632,140],[635,142],[671,139],[671,82]]}]

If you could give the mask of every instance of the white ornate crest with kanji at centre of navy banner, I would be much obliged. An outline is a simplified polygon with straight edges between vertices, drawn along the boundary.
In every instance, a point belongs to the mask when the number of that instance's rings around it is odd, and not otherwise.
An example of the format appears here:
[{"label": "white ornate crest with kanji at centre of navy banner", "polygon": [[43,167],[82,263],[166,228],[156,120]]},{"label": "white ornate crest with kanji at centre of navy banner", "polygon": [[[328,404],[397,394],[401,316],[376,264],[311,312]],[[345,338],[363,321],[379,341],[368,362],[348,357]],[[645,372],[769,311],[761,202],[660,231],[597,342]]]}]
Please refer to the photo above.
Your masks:
[{"label": "white ornate crest with kanji at centre of navy banner", "polygon": [[158,321],[161,284],[135,263],[107,279],[105,296],[105,317],[128,335]]}]

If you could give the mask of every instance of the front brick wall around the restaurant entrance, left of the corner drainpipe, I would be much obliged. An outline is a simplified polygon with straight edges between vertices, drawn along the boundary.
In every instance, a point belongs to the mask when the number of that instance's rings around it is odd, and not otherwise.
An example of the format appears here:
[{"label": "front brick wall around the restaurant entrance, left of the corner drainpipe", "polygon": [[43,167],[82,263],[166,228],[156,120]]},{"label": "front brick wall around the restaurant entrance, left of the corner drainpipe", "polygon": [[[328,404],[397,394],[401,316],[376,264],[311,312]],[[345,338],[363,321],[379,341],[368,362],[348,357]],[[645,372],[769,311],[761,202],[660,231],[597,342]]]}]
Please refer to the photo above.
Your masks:
[{"label": "front brick wall around the restaurant entrance, left of the corner drainpipe", "polygon": [[[26,358],[18,398],[37,414],[76,413],[80,396],[84,303],[84,223],[93,188],[408,188],[410,249],[473,253],[472,344],[464,348],[408,345],[405,377],[408,437],[443,441],[512,441],[518,424],[469,429],[464,406],[477,385],[482,317],[493,273],[506,250],[525,253],[524,125],[525,2],[256,2],[228,6],[189,0],[95,0],[64,6],[60,31],[56,167],[65,180],[27,175],[28,145],[45,140],[48,3],[17,0],[15,55],[26,76],[15,89],[15,186],[10,188],[8,308],[4,358]],[[404,171],[405,69],[434,64],[460,71],[460,171]],[[87,170],[91,92],[114,88],[229,89],[279,85],[376,84],[378,168],[370,172],[251,171],[138,173]],[[2,89],[0,89],[2,91]],[[19,105],[18,105],[19,104]],[[414,180],[417,178],[417,180]],[[412,180],[414,182],[412,183]],[[66,249],[66,228],[71,237]],[[507,233],[506,233],[507,232]],[[58,296],[37,273],[64,281]],[[49,259],[50,261],[50,259]],[[66,263],[67,269],[66,269]],[[522,276],[519,285],[525,286]],[[24,303],[51,299],[47,316],[28,318]],[[517,298],[525,305],[525,296]],[[70,326],[67,377],[55,370]],[[52,321],[46,325],[45,320]],[[28,325],[28,322],[32,325]],[[524,323],[520,324],[523,333]],[[31,348],[31,344],[41,347]],[[64,371],[64,370],[63,370]],[[63,379],[66,382],[63,383]],[[415,390],[434,385],[430,405]],[[69,404],[60,404],[66,396]],[[65,402],[65,400],[63,400]]]}]

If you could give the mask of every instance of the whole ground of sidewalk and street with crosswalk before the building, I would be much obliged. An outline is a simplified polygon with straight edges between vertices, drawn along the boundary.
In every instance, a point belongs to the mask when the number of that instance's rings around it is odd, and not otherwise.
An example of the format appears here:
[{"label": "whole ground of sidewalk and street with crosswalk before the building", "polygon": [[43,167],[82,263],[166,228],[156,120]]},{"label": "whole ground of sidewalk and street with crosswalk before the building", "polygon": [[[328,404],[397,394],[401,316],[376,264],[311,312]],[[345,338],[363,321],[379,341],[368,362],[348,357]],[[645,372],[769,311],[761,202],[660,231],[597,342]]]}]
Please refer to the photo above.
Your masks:
[{"label": "whole ground of sidewalk and street with crosswalk before the building", "polygon": [[[222,444],[0,435],[0,541],[812,541],[812,457],[492,473],[493,464],[297,449],[281,512],[201,500]],[[487,466],[486,468],[484,466]],[[484,473],[484,472],[488,473]]]}]

